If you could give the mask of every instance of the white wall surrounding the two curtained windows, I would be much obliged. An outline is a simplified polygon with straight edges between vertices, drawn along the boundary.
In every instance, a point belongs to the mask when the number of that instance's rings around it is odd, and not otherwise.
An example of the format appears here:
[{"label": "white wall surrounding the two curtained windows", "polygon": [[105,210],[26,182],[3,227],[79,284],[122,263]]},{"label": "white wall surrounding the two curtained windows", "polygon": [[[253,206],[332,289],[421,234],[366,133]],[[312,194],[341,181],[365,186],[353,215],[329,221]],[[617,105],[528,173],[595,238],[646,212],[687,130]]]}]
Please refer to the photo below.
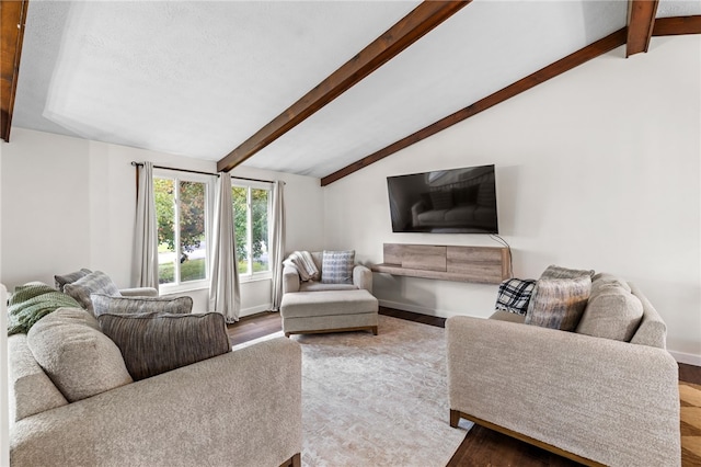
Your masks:
[{"label": "white wall surrounding the two curtained windows", "polygon": [[[89,141],[23,128],[2,144],[0,277],[9,289],[80,267],[107,273],[128,287],[136,171],[131,161],[215,172],[216,162]],[[319,248],[323,197],[319,180],[238,169],[241,176],[285,180],[288,246]],[[271,282],[241,286],[242,316],[269,309]],[[207,291],[189,293],[207,310]]]}]

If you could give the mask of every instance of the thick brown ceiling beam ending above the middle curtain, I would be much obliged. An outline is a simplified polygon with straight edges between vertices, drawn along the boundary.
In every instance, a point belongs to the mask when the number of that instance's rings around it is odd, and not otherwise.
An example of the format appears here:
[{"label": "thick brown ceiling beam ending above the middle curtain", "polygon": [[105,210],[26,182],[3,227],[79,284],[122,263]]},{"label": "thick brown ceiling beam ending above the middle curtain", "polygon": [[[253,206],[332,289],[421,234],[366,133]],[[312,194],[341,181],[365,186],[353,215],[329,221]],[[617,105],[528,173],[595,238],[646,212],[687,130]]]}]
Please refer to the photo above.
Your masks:
[{"label": "thick brown ceiling beam ending above the middle curtain", "polygon": [[434,27],[452,16],[470,1],[422,2],[319,86],[223,157],[217,162],[217,170],[228,172],[239,166],[360,82]]}]

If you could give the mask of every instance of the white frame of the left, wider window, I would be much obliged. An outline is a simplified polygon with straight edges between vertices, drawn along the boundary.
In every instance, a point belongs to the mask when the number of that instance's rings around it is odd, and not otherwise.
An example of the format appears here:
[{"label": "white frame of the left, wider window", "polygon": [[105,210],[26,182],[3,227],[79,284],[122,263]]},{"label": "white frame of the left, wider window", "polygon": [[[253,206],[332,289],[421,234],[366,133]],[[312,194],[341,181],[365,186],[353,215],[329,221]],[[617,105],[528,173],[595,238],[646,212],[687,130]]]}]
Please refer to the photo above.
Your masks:
[{"label": "white frame of the left, wider window", "polygon": [[179,170],[169,170],[169,169],[153,169],[153,178],[154,179],[168,179],[173,180],[175,182],[175,207],[174,207],[174,219],[173,225],[175,226],[175,231],[173,232],[175,236],[175,244],[177,246],[177,251],[175,251],[175,258],[179,258],[182,254],[181,244],[180,244],[180,182],[195,182],[195,183],[204,183],[205,184],[205,278],[197,281],[180,281],[180,261],[175,261],[175,269],[173,272],[173,278],[175,280],[172,283],[160,284],[159,289],[163,295],[179,293],[179,292],[189,292],[189,291],[199,291],[199,289],[208,289],[209,281],[210,281],[210,264],[211,264],[211,221],[214,214],[214,193],[215,193],[215,175],[205,175],[199,173],[191,173]]}]

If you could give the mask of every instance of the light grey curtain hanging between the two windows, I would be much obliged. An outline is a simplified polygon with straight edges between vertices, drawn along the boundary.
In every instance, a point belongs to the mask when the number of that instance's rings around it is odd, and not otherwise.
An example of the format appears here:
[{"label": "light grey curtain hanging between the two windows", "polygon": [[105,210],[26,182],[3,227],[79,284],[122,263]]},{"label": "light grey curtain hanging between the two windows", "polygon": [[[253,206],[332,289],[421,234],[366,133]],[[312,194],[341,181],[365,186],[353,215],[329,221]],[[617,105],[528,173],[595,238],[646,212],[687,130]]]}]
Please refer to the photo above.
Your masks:
[{"label": "light grey curtain hanging between the two windows", "polygon": [[239,267],[233,231],[231,176],[219,173],[212,232],[209,310],[223,315],[227,322],[237,322],[241,309]]}]

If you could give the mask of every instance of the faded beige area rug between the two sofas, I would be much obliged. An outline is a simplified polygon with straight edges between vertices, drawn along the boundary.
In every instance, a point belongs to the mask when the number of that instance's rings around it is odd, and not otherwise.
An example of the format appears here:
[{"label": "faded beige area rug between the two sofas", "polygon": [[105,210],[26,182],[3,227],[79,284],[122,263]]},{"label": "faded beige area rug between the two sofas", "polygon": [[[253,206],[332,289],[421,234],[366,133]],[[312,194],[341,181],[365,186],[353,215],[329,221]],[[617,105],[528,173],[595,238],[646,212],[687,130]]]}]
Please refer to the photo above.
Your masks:
[{"label": "faded beige area rug between the two sofas", "polygon": [[472,426],[449,424],[445,330],[379,318],[379,335],[290,338],[302,346],[303,466],[443,467]]}]

